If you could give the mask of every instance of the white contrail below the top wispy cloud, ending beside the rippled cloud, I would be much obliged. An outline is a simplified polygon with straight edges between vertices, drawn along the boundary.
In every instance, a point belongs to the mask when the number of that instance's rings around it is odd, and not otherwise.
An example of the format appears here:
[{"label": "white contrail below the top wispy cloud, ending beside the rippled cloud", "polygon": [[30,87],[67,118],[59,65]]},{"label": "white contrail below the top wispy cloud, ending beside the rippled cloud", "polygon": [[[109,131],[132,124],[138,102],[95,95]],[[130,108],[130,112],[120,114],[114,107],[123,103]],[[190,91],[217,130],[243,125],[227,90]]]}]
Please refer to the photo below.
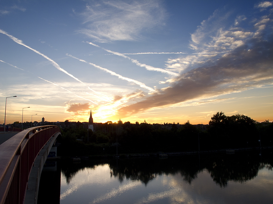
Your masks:
[{"label": "white contrail below the top wispy cloud, ending beside the rippled cloud", "polygon": [[[91,42],[87,42],[87,43],[90,44],[90,45],[93,45],[93,46],[95,46],[95,47],[100,47],[100,46],[98,46],[98,45],[96,45],[96,44],[94,44],[94,43],[91,43]],[[178,73],[175,73],[175,72],[172,72],[172,71],[169,71],[169,70],[166,70],[166,69],[156,68],[156,67],[149,66],[149,65],[147,65],[147,64],[142,64],[142,63],[140,63],[139,61],[137,61],[137,60],[135,60],[135,59],[132,59],[132,58],[130,58],[130,57],[128,57],[128,56],[126,56],[126,55],[124,55],[124,54],[122,54],[122,53],[114,52],[114,51],[111,51],[111,50],[107,50],[107,49],[105,49],[105,48],[103,48],[103,47],[100,47],[100,48],[103,49],[103,50],[105,50],[106,52],[110,52],[110,53],[112,53],[112,54],[114,54],[114,55],[119,55],[119,56],[121,56],[121,57],[127,58],[127,59],[131,60],[131,61],[132,61],[134,64],[136,64],[137,66],[139,66],[139,67],[145,67],[147,70],[150,70],[150,71],[157,71],[157,72],[162,72],[162,73],[167,73],[167,74],[173,75],[173,76],[178,76],[178,75],[179,75]]]}]

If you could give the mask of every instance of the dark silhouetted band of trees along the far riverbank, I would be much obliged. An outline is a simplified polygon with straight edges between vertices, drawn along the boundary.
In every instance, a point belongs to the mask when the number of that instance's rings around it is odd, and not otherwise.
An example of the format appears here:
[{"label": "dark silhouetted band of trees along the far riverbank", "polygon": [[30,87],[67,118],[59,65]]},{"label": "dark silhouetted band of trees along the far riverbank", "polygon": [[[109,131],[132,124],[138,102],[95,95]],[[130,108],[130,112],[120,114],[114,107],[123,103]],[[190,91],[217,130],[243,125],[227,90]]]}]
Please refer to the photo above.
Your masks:
[{"label": "dark silhouetted band of trees along the far riverbank", "polygon": [[94,124],[68,121],[61,126],[63,154],[128,154],[184,152],[272,146],[273,122],[259,123],[245,115],[213,115],[208,125],[149,124],[121,120]]}]

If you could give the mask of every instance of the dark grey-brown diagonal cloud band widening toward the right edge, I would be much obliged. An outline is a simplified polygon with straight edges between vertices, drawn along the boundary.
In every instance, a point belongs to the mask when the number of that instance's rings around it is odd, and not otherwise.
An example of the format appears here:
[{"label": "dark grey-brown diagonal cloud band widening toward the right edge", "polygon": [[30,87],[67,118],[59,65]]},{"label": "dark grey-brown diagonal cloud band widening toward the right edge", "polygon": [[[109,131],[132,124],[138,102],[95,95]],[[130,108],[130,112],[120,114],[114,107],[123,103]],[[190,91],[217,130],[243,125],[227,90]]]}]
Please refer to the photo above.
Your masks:
[{"label": "dark grey-brown diagonal cloud band widening toward the right edge", "polygon": [[[271,24],[272,26],[272,24]],[[119,109],[119,115],[135,114],[147,109],[173,105],[187,100],[210,98],[272,84],[273,35],[260,35],[245,41],[212,65],[192,69],[175,79],[159,94]]]}]

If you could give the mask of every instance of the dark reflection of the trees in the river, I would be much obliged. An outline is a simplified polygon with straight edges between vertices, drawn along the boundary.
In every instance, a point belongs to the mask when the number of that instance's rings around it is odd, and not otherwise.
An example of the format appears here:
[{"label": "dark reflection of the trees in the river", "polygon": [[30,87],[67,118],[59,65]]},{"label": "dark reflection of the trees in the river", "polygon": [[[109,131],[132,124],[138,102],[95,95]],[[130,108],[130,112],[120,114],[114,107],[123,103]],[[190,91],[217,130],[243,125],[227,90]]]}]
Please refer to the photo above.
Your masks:
[{"label": "dark reflection of the trees in the river", "polygon": [[260,152],[236,152],[235,154],[191,154],[172,156],[166,159],[158,157],[137,157],[124,159],[82,160],[81,163],[62,162],[62,174],[69,183],[78,171],[85,168],[109,164],[110,177],[116,177],[122,183],[125,179],[137,180],[148,185],[149,181],[162,174],[181,174],[183,180],[192,183],[198,173],[207,170],[211,178],[221,188],[229,181],[243,183],[257,176],[258,171],[267,168],[272,171],[272,149]]}]

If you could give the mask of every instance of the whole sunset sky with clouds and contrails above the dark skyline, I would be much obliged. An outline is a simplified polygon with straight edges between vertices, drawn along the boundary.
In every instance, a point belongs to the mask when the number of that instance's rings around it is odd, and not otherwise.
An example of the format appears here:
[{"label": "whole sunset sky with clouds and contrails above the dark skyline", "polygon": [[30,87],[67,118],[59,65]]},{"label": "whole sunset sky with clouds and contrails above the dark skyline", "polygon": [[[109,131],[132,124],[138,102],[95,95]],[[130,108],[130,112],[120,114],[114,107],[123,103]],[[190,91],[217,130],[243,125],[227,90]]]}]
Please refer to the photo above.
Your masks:
[{"label": "whole sunset sky with clouds and contrails above the dark skyline", "polygon": [[0,0],[0,123],[90,109],[98,123],[272,121],[272,14],[255,0]]}]

